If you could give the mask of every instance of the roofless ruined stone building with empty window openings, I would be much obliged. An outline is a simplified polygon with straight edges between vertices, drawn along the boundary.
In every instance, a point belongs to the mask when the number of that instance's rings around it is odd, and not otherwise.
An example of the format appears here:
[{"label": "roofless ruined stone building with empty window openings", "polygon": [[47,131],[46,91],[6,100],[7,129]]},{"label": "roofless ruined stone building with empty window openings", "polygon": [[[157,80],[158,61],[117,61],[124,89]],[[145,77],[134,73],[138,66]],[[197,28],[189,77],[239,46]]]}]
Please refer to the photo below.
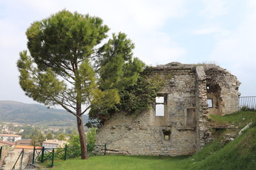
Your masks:
[{"label": "roofless ruined stone building with empty window openings", "polygon": [[97,145],[107,144],[113,154],[194,154],[206,145],[209,114],[239,110],[240,82],[215,64],[173,62],[154,67],[154,74],[168,79],[152,108],[137,117],[112,115],[99,130]]}]

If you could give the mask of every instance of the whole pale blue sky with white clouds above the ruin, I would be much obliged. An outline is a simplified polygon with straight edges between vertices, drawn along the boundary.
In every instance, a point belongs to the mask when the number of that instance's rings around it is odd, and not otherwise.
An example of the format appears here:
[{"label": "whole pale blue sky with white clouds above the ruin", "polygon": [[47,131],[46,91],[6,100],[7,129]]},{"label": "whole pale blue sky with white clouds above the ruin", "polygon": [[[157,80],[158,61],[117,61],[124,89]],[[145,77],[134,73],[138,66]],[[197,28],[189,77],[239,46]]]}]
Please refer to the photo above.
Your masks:
[{"label": "whole pale blue sky with white clouds above the ruin", "polygon": [[256,96],[255,0],[0,0],[0,101],[36,103],[18,84],[16,62],[31,23],[63,9],[126,33],[146,64],[218,64],[241,81],[241,96]]}]

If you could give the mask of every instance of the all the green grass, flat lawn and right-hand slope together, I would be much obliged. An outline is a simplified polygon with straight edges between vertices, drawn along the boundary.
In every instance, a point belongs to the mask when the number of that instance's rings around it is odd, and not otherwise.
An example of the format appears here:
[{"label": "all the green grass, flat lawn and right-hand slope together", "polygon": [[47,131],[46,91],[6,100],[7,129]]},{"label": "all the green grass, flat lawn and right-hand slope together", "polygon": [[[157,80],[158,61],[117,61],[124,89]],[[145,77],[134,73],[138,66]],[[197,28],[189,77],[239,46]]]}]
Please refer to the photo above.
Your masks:
[{"label": "all the green grass, flat lawn and right-hand slope together", "polygon": [[[88,160],[71,159],[65,162],[55,162],[56,169],[171,169],[171,170],[251,170],[256,169],[256,112],[240,112],[225,116],[211,116],[211,121],[217,124],[234,124],[238,133],[247,123],[255,124],[240,137],[227,145],[220,140],[212,142],[192,157],[145,157],[145,156],[105,156],[90,157]],[[233,129],[234,131],[234,129]],[[216,132],[216,138],[230,130]],[[219,135],[219,137],[218,137]]]}]

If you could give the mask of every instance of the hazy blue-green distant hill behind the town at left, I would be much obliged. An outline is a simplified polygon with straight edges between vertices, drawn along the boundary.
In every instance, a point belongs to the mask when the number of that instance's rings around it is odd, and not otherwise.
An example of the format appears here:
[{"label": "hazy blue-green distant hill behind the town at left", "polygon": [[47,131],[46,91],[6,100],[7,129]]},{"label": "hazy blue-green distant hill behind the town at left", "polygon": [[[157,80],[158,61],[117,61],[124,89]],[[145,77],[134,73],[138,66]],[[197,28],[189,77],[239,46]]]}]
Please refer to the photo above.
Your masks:
[{"label": "hazy blue-green distant hill behind the town at left", "polygon": [[[87,118],[85,115],[84,123]],[[0,101],[0,121],[55,126],[76,125],[75,116],[65,110],[17,101]]]}]

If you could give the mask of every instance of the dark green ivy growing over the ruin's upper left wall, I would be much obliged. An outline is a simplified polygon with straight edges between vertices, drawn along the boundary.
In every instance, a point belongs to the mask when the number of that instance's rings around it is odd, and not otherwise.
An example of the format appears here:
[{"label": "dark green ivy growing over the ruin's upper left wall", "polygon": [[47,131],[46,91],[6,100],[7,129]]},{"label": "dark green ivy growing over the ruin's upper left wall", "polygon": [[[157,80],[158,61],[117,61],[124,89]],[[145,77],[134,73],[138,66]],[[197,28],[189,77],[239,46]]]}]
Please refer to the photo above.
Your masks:
[{"label": "dark green ivy growing over the ruin's upper left wall", "polygon": [[[170,77],[170,76],[169,76]],[[134,116],[149,109],[155,100],[156,92],[165,84],[166,79],[158,74],[152,74],[152,68],[146,67],[144,72],[140,73],[137,81],[130,86],[118,88],[120,102],[113,107],[94,107],[92,106],[89,113],[89,123],[87,127],[101,126],[102,123],[109,119],[112,113],[124,111]],[[97,121],[95,121],[97,119]]]}]

